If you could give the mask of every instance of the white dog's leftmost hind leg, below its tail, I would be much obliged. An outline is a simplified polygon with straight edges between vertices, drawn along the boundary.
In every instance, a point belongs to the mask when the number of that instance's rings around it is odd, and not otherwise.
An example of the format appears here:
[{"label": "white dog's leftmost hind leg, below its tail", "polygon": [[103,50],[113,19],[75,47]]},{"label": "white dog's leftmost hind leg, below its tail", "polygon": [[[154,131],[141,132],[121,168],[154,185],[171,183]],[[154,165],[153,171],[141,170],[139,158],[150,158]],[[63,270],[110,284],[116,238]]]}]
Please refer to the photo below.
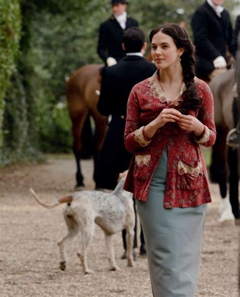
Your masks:
[{"label": "white dog's leftmost hind leg, below its tail", "polygon": [[59,250],[60,250],[60,258],[61,258],[61,261],[60,261],[60,269],[61,270],[66,269],[65,245],[66,245],[66,243],[71,241],[78,234],[78,231],[79,231],[78,225],[77,225],[76,221],[74,220],[73,216],[65,214],[64,218],[66,221],[68,233],[60,242],[58,242],[58,246],[59,246]]}]

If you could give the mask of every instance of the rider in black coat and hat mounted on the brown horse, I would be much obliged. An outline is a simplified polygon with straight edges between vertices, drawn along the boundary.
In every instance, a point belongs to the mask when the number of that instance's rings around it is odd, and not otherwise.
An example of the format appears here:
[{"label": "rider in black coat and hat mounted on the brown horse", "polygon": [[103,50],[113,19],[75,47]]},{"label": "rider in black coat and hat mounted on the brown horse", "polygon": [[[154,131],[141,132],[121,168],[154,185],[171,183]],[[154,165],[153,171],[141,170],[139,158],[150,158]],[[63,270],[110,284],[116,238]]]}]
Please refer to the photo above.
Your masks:
[{"label": "rider in black coat and hat mounted on the brown horse", "polygon": [[122,47],[124,30],[138,26],[127,14],[127,7],[125,0],[112,0],[112,16],[100,26],[97,51],[107,66],[116,64],[126,54]]}]

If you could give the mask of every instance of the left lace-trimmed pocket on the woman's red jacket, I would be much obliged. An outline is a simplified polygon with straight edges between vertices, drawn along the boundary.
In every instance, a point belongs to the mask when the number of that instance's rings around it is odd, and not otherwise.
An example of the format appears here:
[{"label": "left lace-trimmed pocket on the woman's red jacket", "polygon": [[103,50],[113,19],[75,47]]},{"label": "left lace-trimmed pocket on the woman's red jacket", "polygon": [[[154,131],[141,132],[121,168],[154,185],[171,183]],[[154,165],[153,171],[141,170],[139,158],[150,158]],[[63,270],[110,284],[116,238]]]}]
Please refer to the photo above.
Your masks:
[{"label": "left lace-trimmed pocket on the woman's red jacket", "polygon": [[135,154],[134,178],[145,181],[150,167],[150,154]]}]

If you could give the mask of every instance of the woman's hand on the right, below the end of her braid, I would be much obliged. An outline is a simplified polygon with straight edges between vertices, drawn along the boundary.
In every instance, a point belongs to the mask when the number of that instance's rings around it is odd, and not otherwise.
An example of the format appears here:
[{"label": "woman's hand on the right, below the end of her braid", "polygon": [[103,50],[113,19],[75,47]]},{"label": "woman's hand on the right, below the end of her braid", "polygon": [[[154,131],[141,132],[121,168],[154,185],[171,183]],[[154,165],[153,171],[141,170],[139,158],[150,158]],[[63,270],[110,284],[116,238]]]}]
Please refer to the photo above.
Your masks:
[{"label": "woman's hand on the right, below the end of her braid", "polygon": [[193,131],[196,137],[202,136],[204,133],[204,124],[191,115],[181,114],[177,123],[181,129]]}]

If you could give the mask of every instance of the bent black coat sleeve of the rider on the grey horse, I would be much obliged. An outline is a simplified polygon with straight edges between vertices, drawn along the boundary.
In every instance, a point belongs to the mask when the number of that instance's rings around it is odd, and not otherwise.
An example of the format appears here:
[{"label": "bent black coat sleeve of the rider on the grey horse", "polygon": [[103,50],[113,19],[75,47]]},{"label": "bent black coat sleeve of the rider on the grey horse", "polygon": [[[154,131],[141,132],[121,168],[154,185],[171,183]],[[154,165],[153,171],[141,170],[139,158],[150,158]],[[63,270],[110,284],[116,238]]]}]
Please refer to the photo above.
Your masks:
[{"label": "bent black coat sleeve of the rider on the grey horse", "polygon": [[194,44],[197,51],[202,52],[209,60],[214,60],[221,53],[208,38],[208,23],[204,11],[197,10],[191,20]]}]

